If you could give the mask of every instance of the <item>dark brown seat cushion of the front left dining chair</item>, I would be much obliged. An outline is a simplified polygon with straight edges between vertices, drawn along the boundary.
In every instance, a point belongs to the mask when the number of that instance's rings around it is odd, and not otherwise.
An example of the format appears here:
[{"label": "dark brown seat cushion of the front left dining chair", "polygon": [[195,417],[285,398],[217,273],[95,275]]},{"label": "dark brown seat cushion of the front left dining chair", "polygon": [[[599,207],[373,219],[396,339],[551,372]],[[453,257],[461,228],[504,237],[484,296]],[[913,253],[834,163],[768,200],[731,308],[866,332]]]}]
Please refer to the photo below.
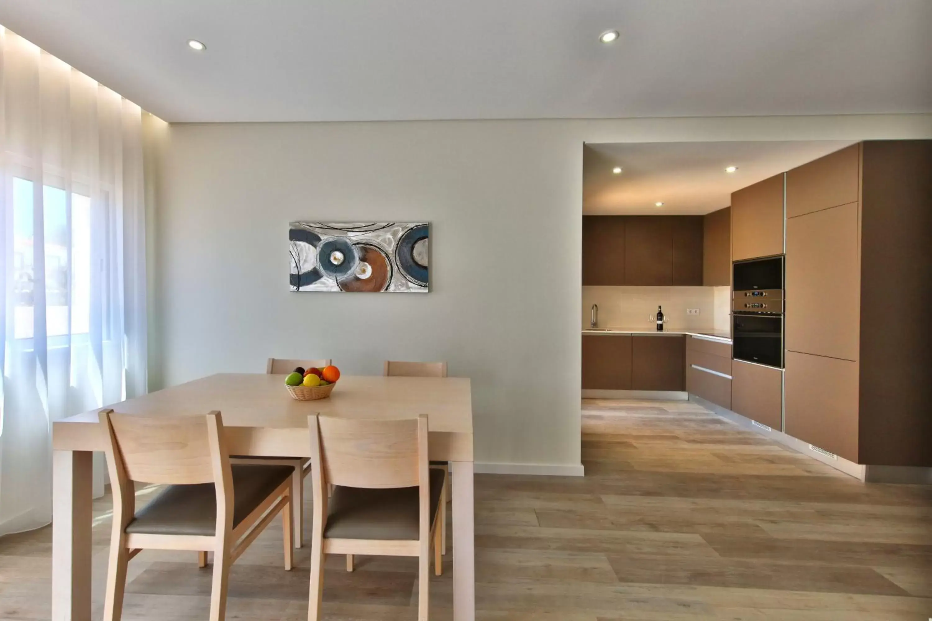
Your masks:
[{"label": "dark brown seat cushion of the front left dining chair", "polygon": [[[295,472],[292,466],[233,465],[230,469],[233,473],[233,528]],[[126,532],[213,536],[216,523],[217,495],[213,483],[170,485],[136,511]]]}]

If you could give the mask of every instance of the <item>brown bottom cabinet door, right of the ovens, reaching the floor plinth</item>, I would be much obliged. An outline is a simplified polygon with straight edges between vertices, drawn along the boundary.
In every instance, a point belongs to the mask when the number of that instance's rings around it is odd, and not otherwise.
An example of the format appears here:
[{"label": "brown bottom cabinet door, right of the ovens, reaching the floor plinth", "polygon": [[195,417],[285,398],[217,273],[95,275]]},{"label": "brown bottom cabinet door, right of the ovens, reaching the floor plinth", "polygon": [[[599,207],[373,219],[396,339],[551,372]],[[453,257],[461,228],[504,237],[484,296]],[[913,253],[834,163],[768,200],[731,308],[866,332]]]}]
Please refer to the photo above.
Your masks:
[{"label": "brown bottom cabinet door, right of the ovens, reaching the floor plinth", "polygon": [[787,428],[793,438],[858,462],[858,365],[787,352]]}]

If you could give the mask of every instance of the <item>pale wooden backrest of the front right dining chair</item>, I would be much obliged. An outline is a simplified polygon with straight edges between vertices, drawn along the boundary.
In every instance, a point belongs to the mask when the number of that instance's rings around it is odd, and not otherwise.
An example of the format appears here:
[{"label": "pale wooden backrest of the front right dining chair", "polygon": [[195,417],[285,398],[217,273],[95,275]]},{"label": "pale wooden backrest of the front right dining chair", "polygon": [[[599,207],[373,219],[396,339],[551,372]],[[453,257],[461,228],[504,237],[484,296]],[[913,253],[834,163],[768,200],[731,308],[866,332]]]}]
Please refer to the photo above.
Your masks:
[{"label": "pale wooden backrest of the front right dining chair", "polygon": [[312,414],[308,428],[311,474],[321,483],[370,489],[427,484],[426,414],[393,421]]}]

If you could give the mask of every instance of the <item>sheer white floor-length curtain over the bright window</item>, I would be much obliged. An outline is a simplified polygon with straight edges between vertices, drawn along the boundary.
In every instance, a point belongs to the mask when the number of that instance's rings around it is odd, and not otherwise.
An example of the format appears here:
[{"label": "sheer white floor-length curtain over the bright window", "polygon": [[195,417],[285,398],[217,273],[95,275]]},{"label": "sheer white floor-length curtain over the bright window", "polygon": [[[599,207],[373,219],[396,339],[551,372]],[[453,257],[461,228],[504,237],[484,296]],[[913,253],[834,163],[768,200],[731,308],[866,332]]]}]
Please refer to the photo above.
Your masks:
[{"label": "sheer white floor-length curtain over the bright window", "polygon": [[0,534],[51,520],[51,425],[145,392],[142,111],[0,32]]}]

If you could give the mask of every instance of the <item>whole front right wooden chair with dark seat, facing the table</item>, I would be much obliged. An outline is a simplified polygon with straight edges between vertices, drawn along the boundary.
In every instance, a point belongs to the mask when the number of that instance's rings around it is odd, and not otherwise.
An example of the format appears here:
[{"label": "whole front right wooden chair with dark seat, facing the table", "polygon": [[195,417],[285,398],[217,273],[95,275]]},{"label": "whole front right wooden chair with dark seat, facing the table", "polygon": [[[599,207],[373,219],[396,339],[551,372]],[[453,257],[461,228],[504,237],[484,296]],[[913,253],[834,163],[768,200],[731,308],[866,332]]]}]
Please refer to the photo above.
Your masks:
[{"label": "whole front right wooden chair with dark seat, facing the table", "polygon": [[[400,421],[308,416],[314,520],[308,621],[321,614],[327,554],[418,557],[418,621],[427,621],[431,543],[440,575],[441,470],[428,466],[427,415]],[[324,485],[334,485],[328,499]]]}]

